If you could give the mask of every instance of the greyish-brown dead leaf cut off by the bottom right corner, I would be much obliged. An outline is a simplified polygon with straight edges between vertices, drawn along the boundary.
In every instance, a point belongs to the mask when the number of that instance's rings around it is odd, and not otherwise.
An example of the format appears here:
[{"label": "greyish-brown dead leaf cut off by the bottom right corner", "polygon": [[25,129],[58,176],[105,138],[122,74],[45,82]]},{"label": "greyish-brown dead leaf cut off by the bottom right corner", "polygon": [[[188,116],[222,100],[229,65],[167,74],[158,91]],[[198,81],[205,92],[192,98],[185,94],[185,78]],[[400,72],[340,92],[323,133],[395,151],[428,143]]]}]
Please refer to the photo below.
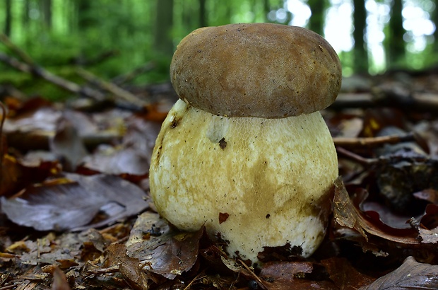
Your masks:
[{"label": "greyish-brown dead leaf cut off by the bottom right corner", "polygon": [[372,284],[360,288],[371,289],[437,289],[438,266],[422,264],[413,257],[407,257],[403,265],[393,272],[380,277]]}]

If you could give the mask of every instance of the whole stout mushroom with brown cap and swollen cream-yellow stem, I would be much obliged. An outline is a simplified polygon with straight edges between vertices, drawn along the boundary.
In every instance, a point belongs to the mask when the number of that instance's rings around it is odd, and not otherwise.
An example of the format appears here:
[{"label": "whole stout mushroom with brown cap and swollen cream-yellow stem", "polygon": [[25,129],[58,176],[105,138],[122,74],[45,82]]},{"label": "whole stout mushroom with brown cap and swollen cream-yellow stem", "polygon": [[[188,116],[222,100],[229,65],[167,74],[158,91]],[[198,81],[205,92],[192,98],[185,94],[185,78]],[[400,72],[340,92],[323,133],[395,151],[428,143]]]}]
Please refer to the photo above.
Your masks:
[{"label": "whole stout mushroom with brown cap and swollen cream-yellow stem", "polygon": [[341,87],[331,45],[288,25],[199,28],[179,43],[170,76],[181,100],[150,165],[160,215],[184,231],[205,225],[252,262],[264,247],[314,253],[338,176],[319,112]]}]

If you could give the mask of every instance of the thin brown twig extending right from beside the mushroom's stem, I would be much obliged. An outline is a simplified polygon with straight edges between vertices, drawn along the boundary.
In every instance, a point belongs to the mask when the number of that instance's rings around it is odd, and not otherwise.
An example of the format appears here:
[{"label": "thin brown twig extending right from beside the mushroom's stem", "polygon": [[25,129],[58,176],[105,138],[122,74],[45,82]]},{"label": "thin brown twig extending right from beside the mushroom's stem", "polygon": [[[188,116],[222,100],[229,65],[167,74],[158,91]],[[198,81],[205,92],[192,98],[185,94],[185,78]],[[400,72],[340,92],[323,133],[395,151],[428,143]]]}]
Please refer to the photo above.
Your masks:
[{"label": "thin brown twig extending right from beside the mushroom's stem", "polygon": [[377,147],[383,144],[396,144],[405,141],[414,141],[413,133],[406,135],[390,135],[382,137],[365,137],[365,138],[349,138],[349,137],[333,137],[333,142],[336,146],[341,147]]}]

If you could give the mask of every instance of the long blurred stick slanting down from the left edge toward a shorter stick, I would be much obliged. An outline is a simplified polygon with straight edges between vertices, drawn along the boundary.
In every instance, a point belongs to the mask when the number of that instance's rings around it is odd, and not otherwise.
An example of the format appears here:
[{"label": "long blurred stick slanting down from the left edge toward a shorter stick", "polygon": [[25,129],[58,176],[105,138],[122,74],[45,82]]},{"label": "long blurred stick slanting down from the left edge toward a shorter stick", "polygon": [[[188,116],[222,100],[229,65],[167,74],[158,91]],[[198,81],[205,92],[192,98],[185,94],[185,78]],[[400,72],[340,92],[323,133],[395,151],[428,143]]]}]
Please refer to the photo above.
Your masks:
[{"label": "long blurred stick slanting down from the left edge toward a shorter stick", "polygon": [[19,71],[39,76],[40,78],[45,79],[46,81],[49,81],[50,83],[53,83],[60,88],[64,88],[67,91],[82,94],[88,98],[93,98],[99,101],[105,99],[105,95],[100,93],[100,91],[95,91],[93,90],[93,88],[81,87],[77,83],[62,79],[61,77],[54,75],[49,71],[46,71],[42,67],[25,64],[24,62],[20,62],[18,59],[9,57],[8,55],[2,53],[0,53],[0,61],[8,64],[9,66],[12,66],[14,69],[18,69]]}]

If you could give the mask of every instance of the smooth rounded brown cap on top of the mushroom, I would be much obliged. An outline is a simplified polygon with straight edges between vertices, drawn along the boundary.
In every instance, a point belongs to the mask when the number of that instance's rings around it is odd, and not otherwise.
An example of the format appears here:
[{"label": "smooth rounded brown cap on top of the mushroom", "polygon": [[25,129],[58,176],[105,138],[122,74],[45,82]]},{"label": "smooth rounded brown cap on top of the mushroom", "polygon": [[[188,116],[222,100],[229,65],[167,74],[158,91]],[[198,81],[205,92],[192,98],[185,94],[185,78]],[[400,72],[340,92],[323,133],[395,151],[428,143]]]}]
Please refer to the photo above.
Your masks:
[{"label": "smooth rounded brown cap on top of the mushroom", "polygon": [[170,77],[179,98],[213,115],[278,118],[331,105],[341,88],[341,63],[310,30],[230,24],[184,37]]}]

